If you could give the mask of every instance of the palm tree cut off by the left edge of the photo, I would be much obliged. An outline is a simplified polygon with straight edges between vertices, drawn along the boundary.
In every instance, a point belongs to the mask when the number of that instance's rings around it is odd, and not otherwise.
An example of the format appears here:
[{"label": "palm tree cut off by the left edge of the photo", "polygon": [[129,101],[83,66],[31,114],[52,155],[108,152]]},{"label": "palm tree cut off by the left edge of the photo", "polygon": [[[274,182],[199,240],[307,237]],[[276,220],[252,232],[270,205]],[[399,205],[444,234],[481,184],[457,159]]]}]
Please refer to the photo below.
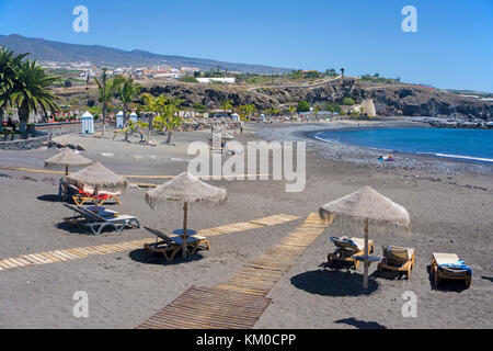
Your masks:
[{"label": "palm tree cut off by the left edge of the photo", "polygon": [[3,111],[11,101],[16,82],[15,68],[27,55],[16,55],[7,47],[0,47],[0,133],[3,131]]}]

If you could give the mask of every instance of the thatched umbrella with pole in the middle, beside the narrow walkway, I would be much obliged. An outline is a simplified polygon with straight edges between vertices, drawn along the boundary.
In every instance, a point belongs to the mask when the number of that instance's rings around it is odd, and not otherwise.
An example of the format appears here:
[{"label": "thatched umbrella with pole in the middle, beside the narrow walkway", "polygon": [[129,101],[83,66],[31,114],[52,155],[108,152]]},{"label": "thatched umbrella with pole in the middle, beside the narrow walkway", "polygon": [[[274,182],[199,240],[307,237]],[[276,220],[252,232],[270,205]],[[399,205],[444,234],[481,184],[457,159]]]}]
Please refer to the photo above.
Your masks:
[{"label": "thatched umbrella with pole in the middle, beside the narrow walkway", "polygon": [[[183,202],[183,233],[186,235],[188,203],[222,203],[227,196],[228,193],[225,189],[209,185],[192,173],[183,172],[168,183],[150,190],[146,194],[146,202],[152,210],[163,206],[167,201]],[[186,240],[184,240],[183,246],[183,257],[186,257]]]}]

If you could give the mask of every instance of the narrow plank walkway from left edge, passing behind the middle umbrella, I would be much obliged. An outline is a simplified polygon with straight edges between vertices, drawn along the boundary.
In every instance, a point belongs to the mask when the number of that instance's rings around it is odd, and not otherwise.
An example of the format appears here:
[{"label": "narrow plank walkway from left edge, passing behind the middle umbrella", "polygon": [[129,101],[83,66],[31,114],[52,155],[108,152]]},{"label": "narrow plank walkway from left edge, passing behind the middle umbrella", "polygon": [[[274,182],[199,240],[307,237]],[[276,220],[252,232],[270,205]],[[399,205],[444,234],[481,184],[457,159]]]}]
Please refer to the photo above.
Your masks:
[{"label": "narrow plank walkway from left edge, passing behind the middle umbrella", "polygon": [[[274,215],[265,218],[254,219],[251,222],[242,222],[222,226],[213,229],[200,230],[199,235],[206,237],[215,237],[226,234],[232,234],[238,231],[246,231],[255,228],[268,227],[274,225],[280,225],[288,222],[299,219],[299,217],[290,215]],[[91,246],[84,248],[54,250],[41,253],[24,254],[19,257],[0,259],[0,271],[20,269],[28,265],[49,264],[56,262],[64,262],[70,260],[81,260],[89,256],[95,254],[111,254],[116,252],[125,252],[141,249],[145,244],[153,244],[153,239],[131,240],[119,244],[107,244]]]}]

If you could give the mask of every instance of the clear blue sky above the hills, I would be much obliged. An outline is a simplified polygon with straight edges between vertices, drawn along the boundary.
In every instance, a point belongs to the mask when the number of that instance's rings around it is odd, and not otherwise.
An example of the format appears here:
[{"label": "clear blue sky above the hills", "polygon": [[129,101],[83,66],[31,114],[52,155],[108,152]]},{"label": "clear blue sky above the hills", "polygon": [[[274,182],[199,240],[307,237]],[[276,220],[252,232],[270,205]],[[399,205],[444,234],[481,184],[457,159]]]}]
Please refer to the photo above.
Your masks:
[{"label": "clear blue sky above the hills", "polygon": [[[72,9],[89,9],[89,33]],[[417,9],[417,33],[401,10]],[[493,0],[0,0],[0,34],[493,92]]]}]

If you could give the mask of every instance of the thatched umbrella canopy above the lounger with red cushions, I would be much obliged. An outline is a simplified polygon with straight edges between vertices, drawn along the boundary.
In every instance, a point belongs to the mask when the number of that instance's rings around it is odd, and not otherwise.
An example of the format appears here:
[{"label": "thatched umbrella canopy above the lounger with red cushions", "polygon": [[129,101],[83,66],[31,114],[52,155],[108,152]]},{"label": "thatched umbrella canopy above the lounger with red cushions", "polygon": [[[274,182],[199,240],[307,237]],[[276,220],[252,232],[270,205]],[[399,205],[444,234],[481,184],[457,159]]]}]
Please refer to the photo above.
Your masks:
[{"label": "thatched umbrella canopy above the lounger with red cushions", "polygon": [[65,178],[66,182],[74,184],[79,188],[84,185],[95,189],[96,196],[98,191],[124,191],[128,186],[127,180],[104,167],[100,162],[94,162],[88,168],[70,174]]}]

